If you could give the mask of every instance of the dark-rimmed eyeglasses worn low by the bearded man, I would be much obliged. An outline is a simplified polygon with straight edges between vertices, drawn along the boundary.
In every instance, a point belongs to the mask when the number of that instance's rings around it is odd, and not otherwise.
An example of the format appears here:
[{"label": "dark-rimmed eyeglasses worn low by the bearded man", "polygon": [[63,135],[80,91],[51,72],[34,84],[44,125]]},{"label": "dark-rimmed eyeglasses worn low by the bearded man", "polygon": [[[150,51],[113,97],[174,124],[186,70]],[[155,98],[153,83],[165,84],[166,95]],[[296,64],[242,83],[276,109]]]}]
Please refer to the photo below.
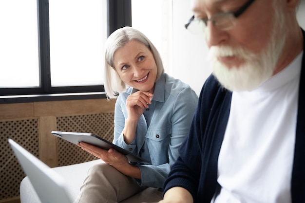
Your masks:
[{"label": "dark-rimmed eyeglasses worn low by the bearded man", "polygon": [[244,13],[244,11],[251,5],[253,1],[254,0],[248,0],[240,9],[238,9],[238,11],[234,13],[218,13],[207,19],[200,19],[192,16],[189,22],[185,24],[185,28],[190,30],[191,33],[197,34],[205,31],[208,25],[208,21],[211,21],[213,26],[219,30],[230,30],[236,25],[236,18]]}]

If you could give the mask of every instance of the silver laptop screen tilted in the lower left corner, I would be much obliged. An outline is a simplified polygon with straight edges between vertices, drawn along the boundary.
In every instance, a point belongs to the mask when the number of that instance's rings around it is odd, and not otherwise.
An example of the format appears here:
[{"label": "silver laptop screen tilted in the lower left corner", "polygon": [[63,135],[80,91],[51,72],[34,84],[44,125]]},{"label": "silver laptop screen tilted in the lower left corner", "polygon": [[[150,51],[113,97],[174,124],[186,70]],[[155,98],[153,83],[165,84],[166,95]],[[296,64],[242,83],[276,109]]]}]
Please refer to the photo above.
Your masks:
[{"label": "silver laptop screen tilted in the lower left corner", "polygon": [[42,203],[73,203],[62,176],[12,139],[8,142]]}]

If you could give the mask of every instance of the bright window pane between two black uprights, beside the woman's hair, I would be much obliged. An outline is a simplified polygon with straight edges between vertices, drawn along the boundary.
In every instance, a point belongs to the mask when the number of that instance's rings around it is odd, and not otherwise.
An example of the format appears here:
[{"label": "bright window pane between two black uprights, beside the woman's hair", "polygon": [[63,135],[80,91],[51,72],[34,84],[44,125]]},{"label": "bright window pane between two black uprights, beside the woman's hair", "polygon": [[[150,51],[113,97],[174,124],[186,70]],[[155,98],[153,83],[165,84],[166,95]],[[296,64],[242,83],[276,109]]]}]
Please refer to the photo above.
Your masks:
[{"label": "bright window pane between two black uprights, beside the woman's hair", "polygon": [[103,84],[106,0],[49,0],[51,86]]}]

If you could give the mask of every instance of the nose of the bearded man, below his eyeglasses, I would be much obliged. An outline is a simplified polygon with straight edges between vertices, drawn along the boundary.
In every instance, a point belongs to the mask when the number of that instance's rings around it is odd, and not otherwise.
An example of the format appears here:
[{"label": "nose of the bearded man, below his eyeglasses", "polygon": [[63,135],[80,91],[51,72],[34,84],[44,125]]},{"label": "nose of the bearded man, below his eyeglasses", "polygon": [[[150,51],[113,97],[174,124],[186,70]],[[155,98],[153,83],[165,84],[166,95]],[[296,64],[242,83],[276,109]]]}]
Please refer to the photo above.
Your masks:
[{"label": "nose of the bearded man, below his eyeglasses", "polygon": [[217,46],[228,40],[228,33],[226,31],[219,30],[212,22],[208,21],[205,30],[206,42],[208,47]]}]

